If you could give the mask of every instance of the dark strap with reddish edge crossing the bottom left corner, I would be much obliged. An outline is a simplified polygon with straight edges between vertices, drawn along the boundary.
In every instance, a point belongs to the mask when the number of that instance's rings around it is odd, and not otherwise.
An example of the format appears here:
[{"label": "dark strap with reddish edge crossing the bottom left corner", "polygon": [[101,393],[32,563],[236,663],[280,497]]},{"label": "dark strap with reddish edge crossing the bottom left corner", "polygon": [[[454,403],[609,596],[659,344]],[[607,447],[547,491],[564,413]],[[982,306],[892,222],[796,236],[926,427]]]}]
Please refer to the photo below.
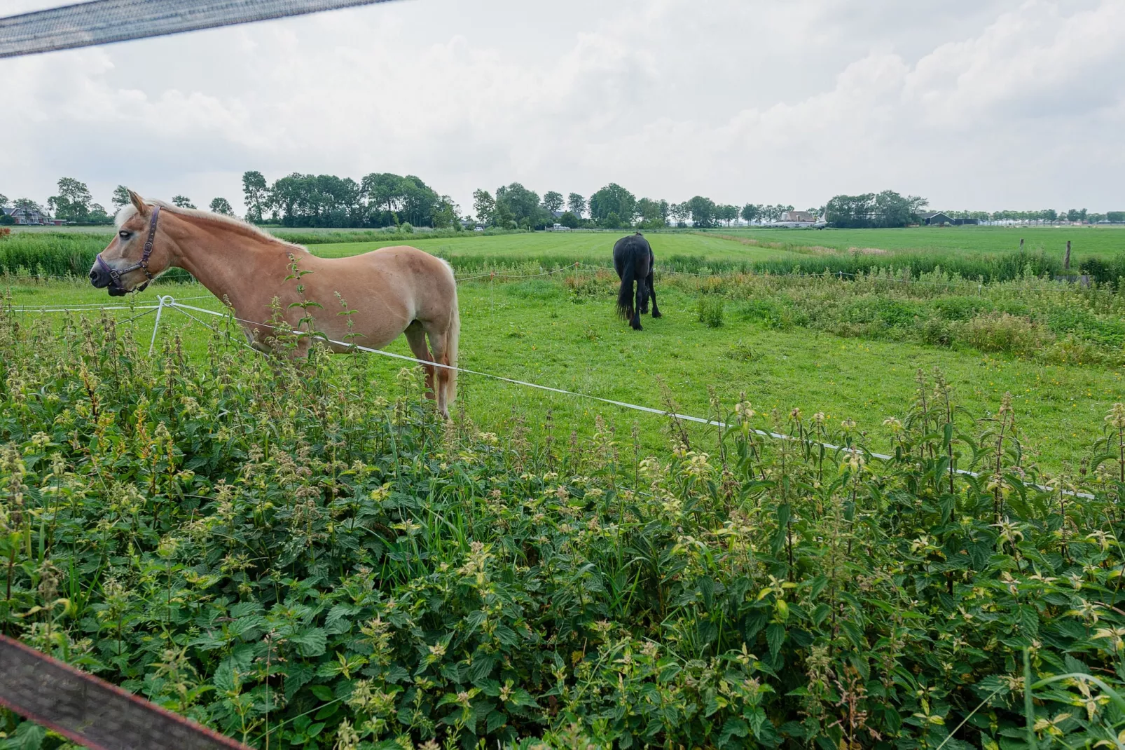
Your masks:
[{"label": "dark strap with reddish edge crossing the bottom left corner", "polygon": [[0,636],[0,705],[88,748],[230,750],[245,745]]}]

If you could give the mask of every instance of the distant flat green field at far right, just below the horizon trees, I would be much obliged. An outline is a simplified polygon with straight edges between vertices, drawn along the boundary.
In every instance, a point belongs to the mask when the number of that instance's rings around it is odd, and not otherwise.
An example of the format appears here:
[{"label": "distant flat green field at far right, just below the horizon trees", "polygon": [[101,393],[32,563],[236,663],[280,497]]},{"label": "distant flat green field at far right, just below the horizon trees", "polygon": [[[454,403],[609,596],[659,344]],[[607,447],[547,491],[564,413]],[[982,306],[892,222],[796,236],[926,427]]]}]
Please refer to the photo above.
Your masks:
[{"label": "distant flat green field at far right, just below the horizon trees", "polygon": [[1109,256],[1125,250],[1125,227],[1115,226],[909,226],[875,230],[807,230],[748,229],[708,230],[788,245],[821,247],[832,250],[875,248],[888,252],[955,251],[965,253],[1004,253],[1024,249],[1043,250],[1052,258],[1062,258],[1066,241],[1072,255]]}]

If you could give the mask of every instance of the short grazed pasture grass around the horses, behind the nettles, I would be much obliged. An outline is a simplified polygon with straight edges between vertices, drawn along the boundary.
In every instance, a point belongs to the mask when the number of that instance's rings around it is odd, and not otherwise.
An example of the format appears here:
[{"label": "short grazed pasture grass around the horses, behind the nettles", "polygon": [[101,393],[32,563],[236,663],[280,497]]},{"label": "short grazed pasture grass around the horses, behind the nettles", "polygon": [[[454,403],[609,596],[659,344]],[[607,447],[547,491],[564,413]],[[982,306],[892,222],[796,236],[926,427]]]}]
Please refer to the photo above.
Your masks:
[{"label": "short grazed pasture grass around the horses, behind the nettles", "polygon": [[[11,289],[16,305],[119,304],[105,292],[78,283],[26,285]],[[218,310],[217,301],[199,285],[159,285],[129,301],[153,304],[158,294],[172,294],[188,304]],[[659,289],[660,320],[644,319],[645,330],[632,331],[613,315],[606,294],[578,298],[556,279],[514,283],[470,282],[459,287],[462,367],[529,381],[577,393],[665,409],[670,395],[682,413],[713,417],[710,392],[727,407],[740,392],[759,412],[792,408],[806,414],[824,411],[830,420],[854,419],[868,432],[867,446],[888,452],[883,419],[903,417],[914,398],[916,373],[927,378],[939,367],[954,386],[956,402],[974,416],[996,411],[1006,392],[1014,396],[1017,426],[1025,449],[1047,470],[1088,455],[1097,426],[1115,401],[1125,401],[1125,383],[1116,369],[1043,365],[972,350],[948,350],[908,342],[845,339],[814,330],[767,330],[738,320],[728,311],[721,328],[696,320],[696,298],[677,289]],[[117,311],[126,320],[143,311]],[[37,313],[21,313],[32,324]],[[50,313],[48,313],[50,314]],[[91,318],[99,313],[92,311]],[[53,320],[57,320],[54,314]],[[147,342],[154,315],[132,323],[134,336]],[[207,318],[208,322],[218,319]],[[179,332],[186,349],[202,356],[209,336],[179,311],[164,311],[159,341]],[[408,355],[399,338],[389,351]],[[336,358],[341,366],[348,363]],[[370,376],[394,392],[404,363],[364,356]],[[508,429],[522,418],[529,427],[547,429],[551,413],[555,438],[566,441],[572,430],[588,434],[596,414],[615,426],[622,445],[633,423],[640,426],[646,450],[668,446],[667,420],[578,396],[556,394],[477,376],[460,377],[459,399],[468,416],[489,431]],[[690,426],[691,427],[691,426]],[[982,425],[980,430],[986,429]],[[691,427],[708,449],[711,436]],[[713,446],[712,446],[713,447]]]}]

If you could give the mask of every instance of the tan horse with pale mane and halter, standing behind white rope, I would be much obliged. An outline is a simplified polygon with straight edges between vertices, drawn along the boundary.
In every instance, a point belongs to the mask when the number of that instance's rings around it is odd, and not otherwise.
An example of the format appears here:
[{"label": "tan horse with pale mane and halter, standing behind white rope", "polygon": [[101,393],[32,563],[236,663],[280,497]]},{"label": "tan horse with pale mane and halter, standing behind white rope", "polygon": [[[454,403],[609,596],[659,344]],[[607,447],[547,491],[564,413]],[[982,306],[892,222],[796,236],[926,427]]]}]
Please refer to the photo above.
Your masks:
[{"label": "tan horse with pale mane and halter, standing behind white rope", "polygon": [[[449,418],[457,394],[457,370],[450,367],[457,366],[460,334],[457,283],[449,264],[406,245],[317,258],[236,218],[145,202],[132,190],[129,199],[117,214],[117,236],[90,269],[93,286],[120,296],[144,289],[169,268],[182,268],[216,297],[230,301],[255,348],[263,348],[260,341],[273,330],[264,321],[274,315],[274,300],[290,327],[309,315],[316,333],[334,341],[379,349],[406,333],[416,358],[448,366],[424,367],[438,410]],[[287,283],[295,262],[299,271],[312,273]],[[354,310],[351,329],[348,316],[334,310],[338,294]],[[294,304],[305,300],[324,306],[307,306],[306,312]],[[298,350],[307,346],[304,340]],[[348,351],[340,343],[330,347]]]}]

